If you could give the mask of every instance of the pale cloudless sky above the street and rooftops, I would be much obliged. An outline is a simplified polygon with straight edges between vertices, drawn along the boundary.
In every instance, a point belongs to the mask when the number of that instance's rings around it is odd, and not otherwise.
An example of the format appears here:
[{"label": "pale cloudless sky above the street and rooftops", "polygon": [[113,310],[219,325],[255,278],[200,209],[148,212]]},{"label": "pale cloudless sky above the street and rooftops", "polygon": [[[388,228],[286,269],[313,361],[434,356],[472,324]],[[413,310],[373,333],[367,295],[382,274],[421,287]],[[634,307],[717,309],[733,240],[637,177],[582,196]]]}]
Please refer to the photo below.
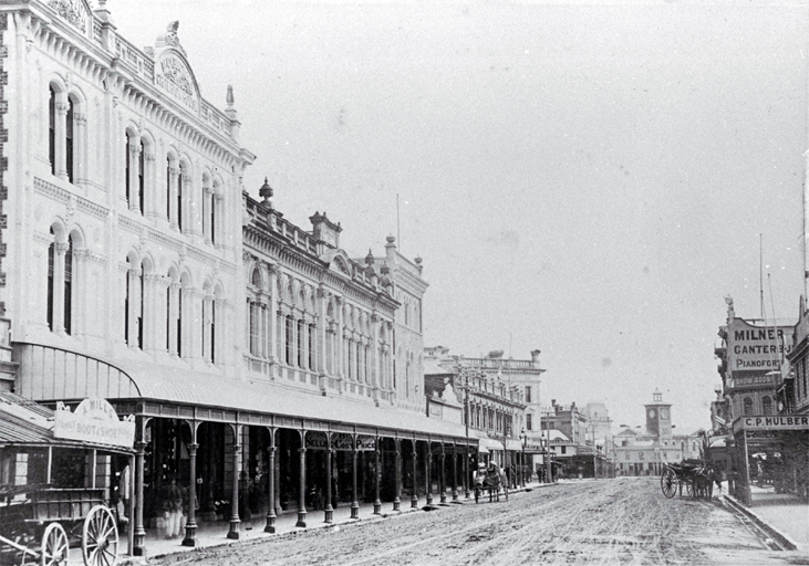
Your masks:
[{"label": "pale cloudless sky above the street and rooftops", "polygon": [[[541,402],[709,427],[724,297],[797,318],[805,2],[108,0],[179,20],[203,96],[302,228],[424,260],[424,343],[541,350]],[[763,266],[763,269],[760,269]],[[764,285],[761,285],[761,281]]]}]

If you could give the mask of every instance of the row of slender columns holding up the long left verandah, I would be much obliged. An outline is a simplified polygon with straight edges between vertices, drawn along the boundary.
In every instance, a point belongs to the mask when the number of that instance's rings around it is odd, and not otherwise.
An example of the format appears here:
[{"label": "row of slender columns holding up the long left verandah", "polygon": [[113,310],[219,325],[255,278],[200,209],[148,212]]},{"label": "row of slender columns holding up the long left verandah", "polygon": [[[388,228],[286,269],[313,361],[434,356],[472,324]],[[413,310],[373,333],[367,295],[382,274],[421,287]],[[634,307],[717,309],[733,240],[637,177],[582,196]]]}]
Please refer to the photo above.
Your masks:
[{"label": "row of slender columns holding up the long left verandah", "polygon": [[[134,525],[134,548],[133,554],[136,556],[143,556],[145,554],[145,537],[146,532],[144,530],[144,517],[143,517],[143,511],[144,511],[144,459],[146,453],[146,446],[147,443],[143,440],[145,438],[145,419],[141,419],[141,426],[138,428],[138,440],[135,442],[135,473],[136,473],[136,504],[135,504],[135,525]],[[188,486],[188,521],[186,523],[185,528],[185,537],[183,539],[184,546],[195,546],[196,545],[196,533],[197,533],[197,521],[196,521],[196,475],[197,475],[197,449],[199,448],[199,444],[197,442],[197,429],[199,424],[201,424],[200,421],[187,421],[190,426],[191,430],[191,442],[188,444],[188,458],[189,458],[189,474],[190,474],[190,485]],[[232,427],[234,432],[234,444],[231,446],[232,450],[232,462],[234,462],[234,473],[232,473],[232,485],[231,485],[231,515],[229,518],[229,530],[227,537],[232,539],[239,538],[239,531],[240,531],[240,523],[241,520],[239,518],[239,476],[241,473],[241,444],[239,443],[239,439],[241,438],[241,429],[242,424],[230,424]],[[269,464],[269,476],[268,476],[268,496],[269,496],[269,503],[268,503],[268,511],[266,516],[266,525],[265,525],[265,532],[267,533],[274,533],[276,532],[276,520],[278,518],[277,513],[277,501],[276,501],[276,458],[277,458],[277,450],[278,447],[276,446],[276,433],[279,430],[278,428],[268,427],[268,430],[270,432],[270,446],[268,447],[268,464]],[[305,506],[305,493],[307,493],[307,451],[312,450],[307,448],[305,442],[305,436],[308,432],[314,432],[314,431],[299,431],[301,437],[301,448],[298,449],[299,458],[300,458],[300,476],[299,476],[299,497],[298,497],[298,521],[295,523],[297,527],[304,528],[307,526],[307,506]],[[333,515],[334,510],[332,507],[332,455],[333,452],[336,450],[332,448],[332,437],[335,434],[334,432],[322,432],[326,436],[326,458],[325,458],[325,505],[324,505],[324,523],[332,523],[333,522]],[[352,502],[351,502],[351,518],[359,518],[359,511],[360,511],[360,503],[357,501],[357,454],[361,451],[359,448],[359,437],[361,434],[354,433],[352,434],[352,473],[351,473],[351,481],[352,481]],[[411,509],[417,509],[418,507],[418,495],[417,495],[417,489],[416,489],[416,481],[417,481],[417,471],[418,471],[418,451],[416,449],[417,447],[417,440],[415,438],[395,438],[393,439],[394,446],[395,446],[395,478],[394,478],[394,500],[393,500],[393,507],[392,510],[394,512],[401,511],[401,496],[402,496],[402,441],[406,440],[412,443],[413,447],[413,490],[412,490],[412,496],[411,496]],[[375,515],[382,514],[382,502],[380,500],[380,455],[381,455],[381,443],[382,439],[380,437],[376,437],[374,440],[374,502],[373,502],[373,513]],[[425,465],[425,491],[426,491],[426,502],[427,505],[433,504],[433,482],[432,482],[432,474],[433,474],[433,457],[437,455],[439,458],[440,464],[439,464],[439,474],[438,474],[438,489],[439,489],[439,503],[445,504],[447,502],[447,484],[446,484],[446,476],[445,476],[445,470],[446,470],[446,451],[445,451],[445,442],[442,441],[425,441],[427,446],[427,458],[424,461]],[[440,446],[440,452],[433,453],[433,444],[438,443]],[[463,473],[463,490],[465,492],[465,497],[469,499],[469,485],[468,485],[468,478],[469,478],[469,447],[467,444],[463,444],[464,450],[460,452],[458,450],[459,446],[454,443],[454,450],[453,450],[453,482],[452,482],[452,501],[454,503],[459,503],[459,491],[458,491],[458,457],[461,455],[464,458],[464,473]]]}]

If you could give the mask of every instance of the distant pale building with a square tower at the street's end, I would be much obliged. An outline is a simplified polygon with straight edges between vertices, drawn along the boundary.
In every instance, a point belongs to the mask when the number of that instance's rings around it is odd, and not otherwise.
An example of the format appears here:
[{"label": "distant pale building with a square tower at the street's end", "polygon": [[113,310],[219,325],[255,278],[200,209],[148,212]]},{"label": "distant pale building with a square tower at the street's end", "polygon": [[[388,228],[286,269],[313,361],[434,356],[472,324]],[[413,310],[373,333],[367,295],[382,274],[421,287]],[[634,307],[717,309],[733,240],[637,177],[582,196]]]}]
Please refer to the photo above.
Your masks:
[{"label": "distant pale building with a square tower at the street's end", "polygon": [[624,427],[613,437],[618,475],[658,475],[666,463],[701,457],[697,432],[674,434],[672,405],[663,401],[663,394],[655,391],[644,411],[644,428]]}]

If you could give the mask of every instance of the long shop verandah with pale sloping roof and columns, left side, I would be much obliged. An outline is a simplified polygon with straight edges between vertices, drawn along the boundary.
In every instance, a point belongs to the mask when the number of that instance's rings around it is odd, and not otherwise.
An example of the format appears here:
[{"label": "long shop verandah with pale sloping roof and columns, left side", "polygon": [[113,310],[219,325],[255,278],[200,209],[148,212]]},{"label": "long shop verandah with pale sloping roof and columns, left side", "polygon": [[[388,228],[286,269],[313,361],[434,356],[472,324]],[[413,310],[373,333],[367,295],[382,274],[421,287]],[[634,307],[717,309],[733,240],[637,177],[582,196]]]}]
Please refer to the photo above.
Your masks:
[{"label": "long shop verandah with pale sloping roof and columns, left side", "polygon": [[330,521],[335,507],[353,516],[365,501],[382,512],[417,506],[418,497],[433,503],[434,493],[437,502],[466,495],[477,439],[458,424],[272,382],[154,366],[127,373],[40,349],[21,356],[23,396],[45,403],[101,397],[136,417],[135,554],[146,552],[146,528],[175,534],[165,528],[175,507],[185,521],[181,542],[194,545],[203,521],[238,538],[242,521],[258,526],[258,516],[272,532],[284,511],[305,526],[313,513]]}]

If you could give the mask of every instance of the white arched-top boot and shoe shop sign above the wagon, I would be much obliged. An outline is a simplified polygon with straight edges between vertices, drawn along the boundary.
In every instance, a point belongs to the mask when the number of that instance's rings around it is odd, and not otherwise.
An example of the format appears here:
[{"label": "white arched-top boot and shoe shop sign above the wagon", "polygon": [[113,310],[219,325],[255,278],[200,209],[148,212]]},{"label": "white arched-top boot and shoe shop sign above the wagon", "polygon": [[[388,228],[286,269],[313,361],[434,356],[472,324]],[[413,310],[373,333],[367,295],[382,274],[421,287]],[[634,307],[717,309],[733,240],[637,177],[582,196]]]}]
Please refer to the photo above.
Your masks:
[{"label": "white arched-top boot and shoe shop sign above the wagon", "polygon": [[53,436],[97,444],[132,448],[135,443],[135,421],[118,420],[118,415],[106,399],[84,399],[76,410],[56,410]]}]

